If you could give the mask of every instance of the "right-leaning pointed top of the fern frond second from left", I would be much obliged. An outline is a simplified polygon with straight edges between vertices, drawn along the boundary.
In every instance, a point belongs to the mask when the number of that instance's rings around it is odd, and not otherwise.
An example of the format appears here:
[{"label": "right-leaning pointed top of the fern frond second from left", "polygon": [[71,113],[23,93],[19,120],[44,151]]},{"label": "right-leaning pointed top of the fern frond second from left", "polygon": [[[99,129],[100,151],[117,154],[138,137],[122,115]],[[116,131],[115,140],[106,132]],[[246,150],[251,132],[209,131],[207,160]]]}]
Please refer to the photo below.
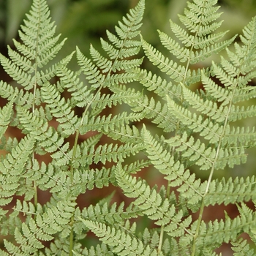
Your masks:
[{"label": "right-leaning pointed top of the fern frond second from left", "polygon": [[[140,33],[138,29],[141,26],[144,8],[145,2],[140,0],[138,5],[130,10],[127,17],[123,17],[123,22],[118,22],[118,26],[115,27],[117,35],[107,31],[110,43],[101,39],[102,48],[108,54],[109,59],[101,56],[91,45],[90,53],[93,59],[91,61],[77,48],[78,64],[94,89],[116,86],[115,81],[118,80],[133,80],[131,75],[116,74],[116,72],[121,70],[126,72],[128,69],[138,67],[142,62],[142,59],[128,58],[135,56],[140,49],[141,42],[134,38]],[[111,72],[113,74],[110,74]]]}]

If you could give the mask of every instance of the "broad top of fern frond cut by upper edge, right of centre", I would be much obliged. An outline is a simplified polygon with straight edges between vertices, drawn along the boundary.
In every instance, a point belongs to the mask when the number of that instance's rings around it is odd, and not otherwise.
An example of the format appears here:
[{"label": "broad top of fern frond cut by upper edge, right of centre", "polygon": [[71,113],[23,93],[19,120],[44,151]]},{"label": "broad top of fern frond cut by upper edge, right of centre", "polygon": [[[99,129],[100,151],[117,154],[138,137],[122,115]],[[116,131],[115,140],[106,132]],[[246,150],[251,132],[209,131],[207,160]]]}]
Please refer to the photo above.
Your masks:
[{"label": "broad top of fern frond cut by upper edge, right of centre", "polygon": [[216,1],[193,1],[188,2],[184,10],[184,15],[179,15],[181,23],[186,27],[183,29],[176,23],[170,20],[170,29],[176,35],[181,43],[169,37],[167,34],[159,31],[159,38],[162,45],[169,52],[184,64],[178,64],[173,60],[169,60],[162,55],[158,50],[142,40],[143,49],[152,64],[156,65],[162,72],[165,72],[176,83],[183,82],[186,85],[196,83],[200,80],[200,72],[189,69],[189,65],[203,61],[212,56],[214,53],[225,49],[233,39],[220,41],[226,32],[214,34],[221,21],[215,22],[219,18],[220,13],[217,12],[219,7],[214,7]]}]

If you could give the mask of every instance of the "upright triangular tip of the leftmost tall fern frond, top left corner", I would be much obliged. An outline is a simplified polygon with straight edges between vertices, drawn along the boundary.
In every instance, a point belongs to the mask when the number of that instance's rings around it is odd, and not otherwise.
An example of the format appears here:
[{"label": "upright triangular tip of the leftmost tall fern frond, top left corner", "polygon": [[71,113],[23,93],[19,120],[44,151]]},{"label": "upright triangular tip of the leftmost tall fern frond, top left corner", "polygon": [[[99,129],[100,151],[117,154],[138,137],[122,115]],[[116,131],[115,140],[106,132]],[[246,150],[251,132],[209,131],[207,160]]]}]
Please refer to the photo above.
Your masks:
[{"label": "upright triangular tip of the leftmost tall fern frond, top left corner", "polygon": [[[9,47],[10,60],[0,56],[5,71],[26,90],[34,84],[42,85],[45,72],[39,69],[45,67],[64,45],[64,40],[57,44],[59,36],[55,34],[55,26],[50,22],[50,12],[45,0],[33,1],[31,12],[21,26],[19,36],[22,43],[14,40],[18,51]],[[48,77],[53,77],[53,73]]]}]

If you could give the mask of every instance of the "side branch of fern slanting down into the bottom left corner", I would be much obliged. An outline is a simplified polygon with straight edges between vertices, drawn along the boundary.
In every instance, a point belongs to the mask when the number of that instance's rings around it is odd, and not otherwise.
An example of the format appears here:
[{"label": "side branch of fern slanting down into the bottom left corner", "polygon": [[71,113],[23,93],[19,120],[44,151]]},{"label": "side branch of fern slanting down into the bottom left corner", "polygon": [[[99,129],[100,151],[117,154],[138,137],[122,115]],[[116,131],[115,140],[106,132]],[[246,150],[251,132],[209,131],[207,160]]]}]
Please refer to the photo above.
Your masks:
[{"label": "side branch of fern slanting down into the bottom left corner", "polygon": [[[12,244],[10,241],[4,240],[8,252],[12,254],[28,255],[37,252],[37,249],[43,248],[44,245],[41,241],[50,241],[53,235],[61,232],[61,236],[67,237],[70,232],[70,227],[67,225],[74,203],[59,201],[56,206],[48,208],[47,211],[40,210],[34,211],[35,208],[28,208],[25,203],[21,206],[18,203],[16,210],[26,214],[36,214],[36,219],[29,218],[28,222],[23,222],[21,230],[18,227],[15,230],[15,239],[17,245]],[[29,213],[27,210],[29,209]],[[20,232],[22,231],[22,232]]]}]

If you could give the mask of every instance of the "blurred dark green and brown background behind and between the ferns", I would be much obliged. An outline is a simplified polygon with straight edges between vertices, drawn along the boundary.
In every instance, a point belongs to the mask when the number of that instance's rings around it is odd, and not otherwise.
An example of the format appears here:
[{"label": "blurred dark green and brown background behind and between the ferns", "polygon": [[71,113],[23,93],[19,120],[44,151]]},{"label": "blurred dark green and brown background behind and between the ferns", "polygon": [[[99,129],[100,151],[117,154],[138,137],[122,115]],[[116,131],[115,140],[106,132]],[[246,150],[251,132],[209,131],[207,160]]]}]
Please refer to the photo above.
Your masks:
[{"label": "blurred dark green and brown background behind and between the ferns", "polygon": [[[31,0],[0,0],[0,52],[5,56],[7,56],[7,45],[12,46],[12,38],[18,39],[20,23],[23,23],[25,13],[29,12],[31,2]],[[78,45],[86,56],[89,56],[90,44],[101,52],[99,38],[106,39],[106,29],[114,32],[114,26],[116,26],[118,20],[121,20],[122,16],[126,15],[129,9],[135,7],[137,3],[138,0],[48,0],[51,17],[56,23],[56,34],[61,33],[62,39],[68,38],[58,58],[62,59],[75,50],[75,45]],[[221,31],[229,30],[227,38],[232,37],[234,34],[241,34],[244,26],[249,23],[252,16],[256,15],[256,0],[222,0],[218,4],[221,6],[220,11],[223,12],[221,20],[224,20]],[[157,29],[171,36],[169,20],[171,18],[178,23],[178,14],[182,15],[186,6],[187,0],[146,0],[146,12],[141,33],[147,42],[161,50],[166,56],[169,53],[160,44]],[[169,57],[171,58],[171,56]],[[215,57],[213,56],[213,58]],[[207,67],[210,63],[211,59],[207,59],[203,65]],[[71,64],[76,69],[75,59]],[[146,59],[143,65],[153,72],[158,72]],[[11,83],[10,78],[1,67],[0,80]],[[252,83],[252,86],[255,86],[255,83]],[[2,107],[5,103],[4,99],[0,98],[0,106]],[[249,120],[246,125],[255,125],[255,120]],[[249,157],[245,165],[239,165],[224,173],[223,170],[218,171],[215,173],[214,178],[255,174],[254,155],[256,151],[254,149],[248,153]],[[208,172],[197,172],[197,170],[195,172],[200,178],[208,177]],[[149,179],[149,184],[162,184],[162,177],[158,177],[157,173],[151,172],[149,175],[146,173],[143,175],[147,176],[146,179]],[[101,195],[99,191],[97,192],[97,189],[94,189],[91,195],[87,195],[86,205],[97,202]],[[81,200],[84,201],[85,199]],[[124,200],[124,198],[119,198],[119,200]],[[80,202],[81,204],[83,204],[82,201]],[[234,217],[237,214],[236,206],[234,208],[225,206],[225,211],[229,212],[229,214],[233,213]],[[206,219],[213,220],[224,217],[224,215],[218,216],[217,212],[224,214],[223,208],[222,211],[214,208],[215,214],[212,216],[212,209],[208,208],[208,217],[206,215]],[[143,225],[147,225],[147,223],[144,222]],[[222,252],[223,255],[230,255],[229,246],[227,246],[226,252],[223,250]]]}]

